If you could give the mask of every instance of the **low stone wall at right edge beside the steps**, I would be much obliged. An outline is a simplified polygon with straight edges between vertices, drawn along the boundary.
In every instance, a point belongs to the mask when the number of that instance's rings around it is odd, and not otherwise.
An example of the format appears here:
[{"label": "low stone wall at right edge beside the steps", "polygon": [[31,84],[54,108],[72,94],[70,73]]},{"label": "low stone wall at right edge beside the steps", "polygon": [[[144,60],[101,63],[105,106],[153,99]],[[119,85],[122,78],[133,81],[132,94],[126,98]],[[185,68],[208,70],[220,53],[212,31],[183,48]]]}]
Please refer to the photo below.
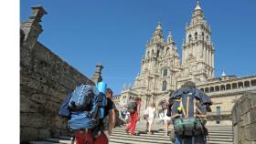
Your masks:
[{"label": "low stone wall at right edge beside the steps", "polygon": [[245,93],[232,108],[234,144],[256,144],[256,92]]}]

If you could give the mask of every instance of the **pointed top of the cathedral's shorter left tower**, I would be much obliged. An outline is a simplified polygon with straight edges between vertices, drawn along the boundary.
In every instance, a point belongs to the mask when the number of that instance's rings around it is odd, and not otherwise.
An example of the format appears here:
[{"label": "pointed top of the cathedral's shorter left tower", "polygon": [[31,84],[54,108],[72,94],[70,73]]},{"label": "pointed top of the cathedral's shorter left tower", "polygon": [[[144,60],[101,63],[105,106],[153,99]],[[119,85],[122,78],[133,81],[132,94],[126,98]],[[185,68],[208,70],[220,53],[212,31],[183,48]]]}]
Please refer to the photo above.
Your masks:
[{"label": "pointed top of the cathedral's shorter left tower", "polygon": [[150,44],[155,44],[155,43],[164,44],[163,30],[162,30],[160,21],[158,21],[157,26],[155,28],[155,32],[150,41]]}]

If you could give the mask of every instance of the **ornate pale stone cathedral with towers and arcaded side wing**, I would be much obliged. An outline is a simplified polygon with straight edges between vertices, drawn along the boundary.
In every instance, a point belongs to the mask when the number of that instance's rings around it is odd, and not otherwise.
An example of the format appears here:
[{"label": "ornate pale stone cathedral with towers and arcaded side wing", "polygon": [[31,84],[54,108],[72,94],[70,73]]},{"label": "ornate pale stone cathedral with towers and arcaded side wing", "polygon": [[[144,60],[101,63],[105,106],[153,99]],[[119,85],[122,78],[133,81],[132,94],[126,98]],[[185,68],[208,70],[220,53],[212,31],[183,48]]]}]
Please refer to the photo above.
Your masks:
[{"label": "ornate pale stone cathedral with towers and arcaded side wing", "polygon": [[146,44],[140,73],[135,77],[133,86],[123,87],[121,96],[116,100],[120,107],[124,107],[133,98],[140,97],[141,110],[152,102],[160,108],[170,93],[190,80],[213,101],[213,111],[208,113],[208,120],[230,124],[231,108],[236,99],[246,91],[256,91],[256,76],[236,77],[223,72],[221,77],[215,77],[214,55],[210,26],[197,1],[190,23],[186,26],[182,56],[178,55],[171,32],[165,39],[158,22]]}]

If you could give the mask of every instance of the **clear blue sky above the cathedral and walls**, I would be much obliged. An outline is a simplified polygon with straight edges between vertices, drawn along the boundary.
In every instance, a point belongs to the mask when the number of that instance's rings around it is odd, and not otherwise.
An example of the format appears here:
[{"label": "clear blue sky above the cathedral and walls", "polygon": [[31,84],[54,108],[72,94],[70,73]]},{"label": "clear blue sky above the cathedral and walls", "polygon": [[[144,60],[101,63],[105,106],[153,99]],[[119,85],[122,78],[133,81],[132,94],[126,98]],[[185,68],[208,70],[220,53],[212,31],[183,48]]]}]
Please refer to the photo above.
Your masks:
[{"label": "clear blue sky above the cathedral and walls", "polygon": [[[87,77],[101,62],[103,80],[119,94],[123,83],[133,83],[140,72],[145,44],[159,19],[165,37],[171,30],[181,52],[196,0],[21,0],[21,22],[33,5],[48,12],[39,42]],[[223,69],[238,77],[256,74],[256,1],[204,0],[200,5],[216,49],[215,75]]]}]

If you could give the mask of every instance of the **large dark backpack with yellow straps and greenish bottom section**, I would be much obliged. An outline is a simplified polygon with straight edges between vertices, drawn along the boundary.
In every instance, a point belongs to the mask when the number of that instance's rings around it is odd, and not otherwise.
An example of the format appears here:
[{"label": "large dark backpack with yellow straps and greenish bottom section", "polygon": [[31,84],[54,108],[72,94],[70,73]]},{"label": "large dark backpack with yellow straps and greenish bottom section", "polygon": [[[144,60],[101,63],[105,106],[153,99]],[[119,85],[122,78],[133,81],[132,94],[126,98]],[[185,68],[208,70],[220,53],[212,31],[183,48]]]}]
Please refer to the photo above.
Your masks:
[{"label": "large dark backpack with yellow straps and greenish bottom section", "polygon": [[176,135],[204,134],[207,109],[200,94],[195,88],[181,88],[171,96],[173,98],[171,113]]}]

